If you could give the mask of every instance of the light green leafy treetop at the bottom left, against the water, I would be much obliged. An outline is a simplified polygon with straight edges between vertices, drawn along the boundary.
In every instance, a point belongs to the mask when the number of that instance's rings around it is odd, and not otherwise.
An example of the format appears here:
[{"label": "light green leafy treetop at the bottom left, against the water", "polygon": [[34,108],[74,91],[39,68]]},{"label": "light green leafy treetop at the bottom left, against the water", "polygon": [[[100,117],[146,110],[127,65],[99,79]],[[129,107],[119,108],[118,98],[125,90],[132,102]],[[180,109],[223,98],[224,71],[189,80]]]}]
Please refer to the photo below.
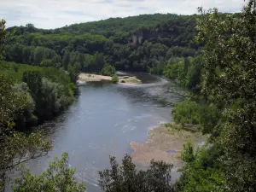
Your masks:
[{"label": "light green leafy treetop at the bottom left, against the water", "polygon": [[75,180],[75,169],[70,169],[68,164],[68,154],[62,154],[61,160],[49,162],[48,169],[41,175],[32,175],[29,169],[20,167],[20,177],[15,179],[13,190],[16,192],[79,192],[85,191],[84,183]]}]

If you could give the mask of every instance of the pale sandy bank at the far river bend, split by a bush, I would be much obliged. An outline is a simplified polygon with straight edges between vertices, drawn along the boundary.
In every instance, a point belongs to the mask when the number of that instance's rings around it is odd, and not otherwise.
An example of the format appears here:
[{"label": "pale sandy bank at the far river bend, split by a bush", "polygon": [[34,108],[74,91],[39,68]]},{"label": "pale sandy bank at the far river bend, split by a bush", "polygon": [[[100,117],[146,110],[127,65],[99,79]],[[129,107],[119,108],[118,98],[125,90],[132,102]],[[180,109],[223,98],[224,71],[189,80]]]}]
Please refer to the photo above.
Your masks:
[{"label": "pale sandy bank at the far river bend, split by a bush", "polygon": [[[142,84],[140,79],[137,79],[136,76],[118,76],[119,82],[118,84]],[[111,76],[104,76],[98,74],[91,74],[91,73],[80,73],[79,74],[79,84],[84,84],[87,82],[102,82],[102,83],[111,83],[112,77]]]}]

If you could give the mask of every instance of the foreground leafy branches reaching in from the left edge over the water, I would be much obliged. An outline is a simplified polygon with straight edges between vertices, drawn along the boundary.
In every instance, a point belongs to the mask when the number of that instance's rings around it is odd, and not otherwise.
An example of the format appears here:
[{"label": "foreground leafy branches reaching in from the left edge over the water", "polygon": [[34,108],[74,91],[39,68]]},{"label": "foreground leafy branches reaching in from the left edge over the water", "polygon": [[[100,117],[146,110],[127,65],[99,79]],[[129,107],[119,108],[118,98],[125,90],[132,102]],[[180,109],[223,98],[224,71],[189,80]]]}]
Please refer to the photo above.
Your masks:
[{"label": "foreground leafy branches reaching in from the left edge over the water", "polygon": [[19,97],[11,88],[9,80],[0,75],[0,190],[3,191],[7,172],[26,160],[47,154],[49,139],[41,132],[26,136],[12,129],[20,111],[26,108],[25,97]]}]

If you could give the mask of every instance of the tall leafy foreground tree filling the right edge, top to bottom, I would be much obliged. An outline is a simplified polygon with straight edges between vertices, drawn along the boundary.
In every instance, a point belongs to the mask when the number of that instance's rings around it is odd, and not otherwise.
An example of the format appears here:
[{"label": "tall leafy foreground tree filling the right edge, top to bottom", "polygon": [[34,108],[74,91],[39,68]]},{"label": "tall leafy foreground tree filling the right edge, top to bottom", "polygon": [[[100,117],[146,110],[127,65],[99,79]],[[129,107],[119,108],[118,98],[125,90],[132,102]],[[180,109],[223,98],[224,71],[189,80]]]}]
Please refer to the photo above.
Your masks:
[{"label": "tall leafy foreground tree filling the right edge, top to bottom", "polygon": [[227,190],[235,192],[256,189],[255,7],[256,1],[248,0],[238,18],[199,9],[197,38],[205,44],[202,92],[224,111],[224,177]]}]

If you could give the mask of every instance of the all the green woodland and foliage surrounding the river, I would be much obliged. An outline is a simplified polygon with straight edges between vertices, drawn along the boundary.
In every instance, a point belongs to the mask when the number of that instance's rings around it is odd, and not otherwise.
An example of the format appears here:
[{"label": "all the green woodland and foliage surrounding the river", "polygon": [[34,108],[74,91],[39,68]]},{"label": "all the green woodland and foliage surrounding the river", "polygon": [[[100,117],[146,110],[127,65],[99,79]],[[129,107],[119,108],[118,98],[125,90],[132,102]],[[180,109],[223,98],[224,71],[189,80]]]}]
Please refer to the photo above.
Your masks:
[{"label": "all the green woodland and foliage surrounding the river", "polygon": [[[79,72],[124,70],[165,76],[189,89],[192,96],[176,104],[173,119],[209,138],[201,147],[183,145],[185,166],[175,183],[170,164],[153,160],[142,171],[129,155],[121,165],[110,157],[110,169],[99,172],[103,191],[255,191],[256,2],[246,2],[237,14],[199,8],[198,15],[110,18],[54,30],[32,24],[5,29],[2,20],[0,189],[6,172],[48,153],[51,143],[43,132],[24,130],[79,96]],[[23,167],[13,189],[84,191],[67,165],[63,154],[39,176]]]}]

